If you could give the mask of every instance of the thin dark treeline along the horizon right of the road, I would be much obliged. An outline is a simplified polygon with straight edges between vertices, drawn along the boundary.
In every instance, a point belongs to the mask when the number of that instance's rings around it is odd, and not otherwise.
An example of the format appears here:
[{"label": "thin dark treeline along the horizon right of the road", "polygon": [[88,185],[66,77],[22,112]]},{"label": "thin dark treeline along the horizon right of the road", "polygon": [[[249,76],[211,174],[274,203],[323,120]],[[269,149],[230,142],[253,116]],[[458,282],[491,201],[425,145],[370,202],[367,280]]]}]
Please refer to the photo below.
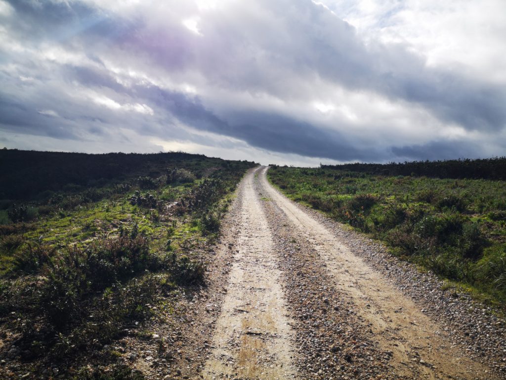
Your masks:
[{"label": "thin dark treeline along the horizon right of the road", "polygon": [[388,164],[320,165],[324,169],[348,170],[376,175],[413,175],[434,178],[506,180],[506,157],[480,160],[413,161]]}]

